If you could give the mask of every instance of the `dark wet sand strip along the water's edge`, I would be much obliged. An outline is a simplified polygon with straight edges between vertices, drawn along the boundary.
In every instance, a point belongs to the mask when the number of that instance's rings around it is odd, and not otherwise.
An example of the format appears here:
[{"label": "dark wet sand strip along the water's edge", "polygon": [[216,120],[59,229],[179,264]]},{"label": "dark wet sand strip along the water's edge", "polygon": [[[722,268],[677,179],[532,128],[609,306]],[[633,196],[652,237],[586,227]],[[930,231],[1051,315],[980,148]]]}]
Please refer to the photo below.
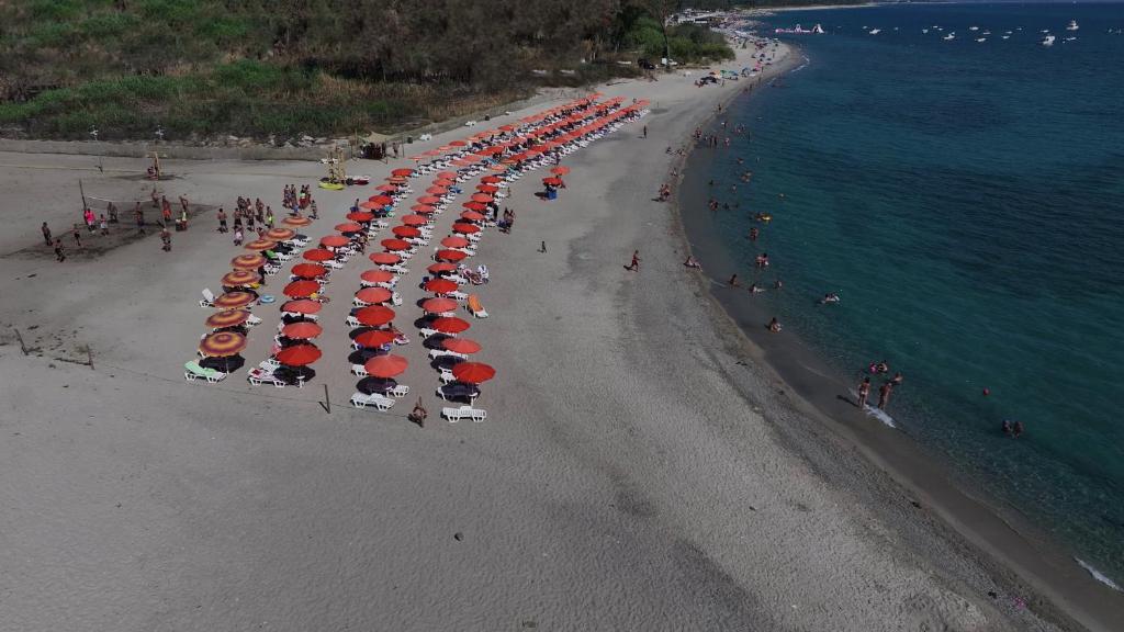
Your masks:
[{"label": "dark wet sand strip along the water's edge", "polygon": [[[874,4],[823,8],[869,6]],[[801,9],[805,8],[792,8]],[[792,43],[786,44],[796,56],[807,61],[801,48]],[[778,69],[770,79],[797,70],[800,66],[796,58],[786,60],[786,66]],[[723,108],[725,110],[735,101],[753,97],[754,93],[735,93],[723,101]],[[717,118],[718,115],[714,112],[701,126],[703,129],[713,132]],[[760,362],[767,372],[776,374],[788,387],[786,391],[797,394],[800,400],[797,407],[803,408],[809,417],[816,417],[814,421],[818,427],[830,431],[836,440],[859,450],[868,461],[868,475],[874,473],[870,469],[878,470],[878,473],[888,477],[900,490],[915,495],[922,503],[916,505],[917,509],[932,511],[933,515],[926,516],[930,518],[926,526],[935,536],[959,540],[973,550],[975,561],[988,575],[1003,578],[1012,594],[1021,592],[1024,596],[1034,595],[1024,598],[1048,619],[1055,622],[1068,621],[1069,624],[1076,623],[1088,630],[1112,630],[1111,622],[1124,617],[1120,592],[1096,578],[1094,569],[1081,562],[1073,551],[1030,524],[1014,507],[1008,507],[986,493],[969,493],[952,472],[950,464],[926,452],[912,437],[874,417],[862,415],[853,409],[853,405],[850,410],[841,408],[843,394],[850,394],[852,389],[827,367],[815,350],[791,332],[782,334],[783,337],[767,333],[763,324],[769,316],[764,308],[749,301],[742,296],[744,292],[729,292],[723,274],[708,272],[731,268],[720,264],[728,261],[728,258],[720,247],[714,247],[714,235],[700,235],[703,228],[692,225],[692,213],[686,210],[694,207],[695,213],[703,213],[704,205],[685,205],[682,196],[696,193],[692,198],[696,200],[706,197],[705,186],[701,190],[699,187],[689,189],[685,186],[692,180],[705,180],[700,177],[705,165],[699,164],[701,160],[697,156],[701,152],[697,151],[697,143],[688,139],[687,146],[687,154],[679,156],[671,166],[678,173],[679,187],[672,202],[680,238],[687,245],[687,252],[695,254],[703,263],[701,287],[698,289],[705,292],[713,307],[733,325],[749,346],[752,360]],[[697,195],[700,192],[701,198]],[[705,243],[696,244],[696,240],[704,240]],[[699,245],[703,247],[698,247]],[[773,425],[779,433],[785,434],[779,424]],[[815,449],[806,443],[791,441],[789,448],[812,461],[816,460],[810,454]],[[885,507],[874,508],[885,513]],[[1022,586],[1024,581],[1030,586]]]}]

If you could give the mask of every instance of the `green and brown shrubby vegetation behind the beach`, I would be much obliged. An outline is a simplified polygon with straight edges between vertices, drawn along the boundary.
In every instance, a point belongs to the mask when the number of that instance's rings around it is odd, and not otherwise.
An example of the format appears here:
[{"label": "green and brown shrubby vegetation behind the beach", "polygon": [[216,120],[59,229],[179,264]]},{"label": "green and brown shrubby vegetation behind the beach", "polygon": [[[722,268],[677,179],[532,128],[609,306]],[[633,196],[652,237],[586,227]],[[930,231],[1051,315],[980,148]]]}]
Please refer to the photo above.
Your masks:
[{"label": "green and brown shrubby vegetation behind the beach", "polygon": [[[728,58],[670,0],[0,2],[0,133],[279,139],[466,114],[617,60]],[[532,70],[545,70],[532,73]],[[560,73],[572,70],[573,73]]]}]

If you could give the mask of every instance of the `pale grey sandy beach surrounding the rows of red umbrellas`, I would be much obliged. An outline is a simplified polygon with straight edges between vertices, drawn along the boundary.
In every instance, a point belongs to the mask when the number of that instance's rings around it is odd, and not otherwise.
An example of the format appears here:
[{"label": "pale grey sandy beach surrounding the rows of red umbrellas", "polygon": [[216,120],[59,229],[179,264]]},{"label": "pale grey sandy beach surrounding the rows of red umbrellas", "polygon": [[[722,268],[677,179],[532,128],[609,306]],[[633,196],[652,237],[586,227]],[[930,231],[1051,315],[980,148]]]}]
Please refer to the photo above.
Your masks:
[{"label": "pale grey sandy beach surrounding the rows of red umbrellas", "polygon": [[[738,53],[715,67],[747,65]],[[767,74],[797,56],[781,48]],[[540,173],[511,187],[514,232],[487,232],[473,260],[491,269],[479,290],[491,316],[471,335],[498,371],[480,424],[433,415],[419,428],[405,418],[414,397],[386,414],[346,405],[344,318],[365,261],[332,277],[307,387],[252,387],[244,370],[183,380],[209,314],[200,290],[243,252],[212,209],[238,195],[277,209],[285,183],[314,183],[321,165],[170,161],[161,190],[203,215],[164,253],[152,233],[125,237],[152,187],[143,161],[0,154],[0,629],[1076,628],[1064,604],[913,506],[685,269],[674,205],[653,201],[680,161],[664,150],[746,87],[696,88],[698,75],[600,87],[652,114],[565,159],[558,200],[533,196]],[[381,180],[409,165],[348,169]],[[119,200],[123,225],[97,251],[62,235],[71,258],[56,264],[38,227],[79,217],[79,179]],[[333,233],[372,193],[314,188],[323,218],[308,234]],[[622,270],[634,250],[638,273]],[[404,314],[419,314],[423,268],[399,286]],[[250,364],[278,324],[273,306],[254,313]],[[400,349],[399,382],[434,413],[425,351]]]}]

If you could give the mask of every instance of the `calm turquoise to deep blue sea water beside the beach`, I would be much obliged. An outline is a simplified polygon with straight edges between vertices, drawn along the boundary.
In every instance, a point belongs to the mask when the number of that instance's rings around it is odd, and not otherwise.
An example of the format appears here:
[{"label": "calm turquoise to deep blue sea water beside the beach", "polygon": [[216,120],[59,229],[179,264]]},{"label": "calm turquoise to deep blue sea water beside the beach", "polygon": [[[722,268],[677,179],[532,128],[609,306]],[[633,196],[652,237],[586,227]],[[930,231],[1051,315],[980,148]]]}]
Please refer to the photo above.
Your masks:
[{"label": "calm turquoise to deep blue sea water beside the beach", "polygon": [[[903,371],[901,432],[1124,584],[1124,35],[1106,33],[1124,4],[768,22],[827,34],[782,36],[808,64],[729,109],[717,132],[751,139],[703,150],[714,196],[738,208],[688,222],[717,224],[745,282],[783,279],[760,300],[841,376]],[[827,291],[842,303],[816,306]],[[1005,437],[1005,418],[1026,434]]]}]

